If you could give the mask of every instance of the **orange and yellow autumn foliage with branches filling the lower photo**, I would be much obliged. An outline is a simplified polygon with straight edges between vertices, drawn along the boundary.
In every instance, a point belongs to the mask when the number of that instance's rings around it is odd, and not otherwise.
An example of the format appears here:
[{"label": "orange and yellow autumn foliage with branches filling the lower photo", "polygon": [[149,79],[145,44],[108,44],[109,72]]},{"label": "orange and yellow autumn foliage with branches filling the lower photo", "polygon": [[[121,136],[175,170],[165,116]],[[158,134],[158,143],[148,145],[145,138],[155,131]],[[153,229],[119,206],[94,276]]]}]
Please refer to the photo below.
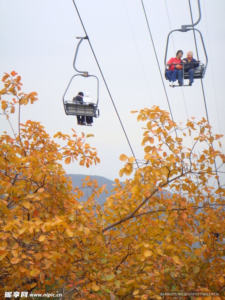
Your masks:
[{"label": "orange and yellow autumn foliage with branches filling the lower photo", "polygon": [[[7,121],[15,105],[20,112],[37,101],[35,92],[20,92],[17,73],[10,75],[0,92]],[[137,120],[146,124],[144,160],[120,156],[125,166],[119,175],[134,179],[115,179],[102,207],[97,198],[105,186],[87,177],[83,186],[92,194],[84,202],[60,164],[100,162],[88,135],[74,131],[71,139],[58,132],[60,146],[40,122],[29,120],[18,122],[18,135],[1,136],[1,295],[63,286],[61,299],[147,300],[177,291],[223,298],[225,190],[215,160],[224,164],[225,156],[212,144],[221,146],[221,136],[204,118],[180,128],[155,106],[141,110]],[[186,134],[192,134],[192,146],[184,146]]]}]

